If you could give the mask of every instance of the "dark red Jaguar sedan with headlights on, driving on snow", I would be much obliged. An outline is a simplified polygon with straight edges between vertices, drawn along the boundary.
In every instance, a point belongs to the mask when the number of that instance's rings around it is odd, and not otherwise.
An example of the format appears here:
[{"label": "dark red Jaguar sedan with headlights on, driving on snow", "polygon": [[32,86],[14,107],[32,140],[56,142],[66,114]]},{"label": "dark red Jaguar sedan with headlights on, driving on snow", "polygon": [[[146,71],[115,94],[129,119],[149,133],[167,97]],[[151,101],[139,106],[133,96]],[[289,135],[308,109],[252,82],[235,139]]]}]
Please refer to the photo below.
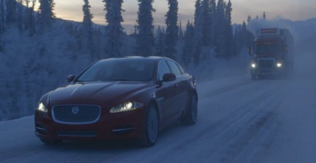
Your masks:
[{"label": "dark red Jaguar sedan with headlights on, driving on snow", "polygon": [[100,60],[67,80],[38,102],[35,134],[45,144],[138,139],[152,146],[160,129],[197,119],[195,79],[170,58]]}]

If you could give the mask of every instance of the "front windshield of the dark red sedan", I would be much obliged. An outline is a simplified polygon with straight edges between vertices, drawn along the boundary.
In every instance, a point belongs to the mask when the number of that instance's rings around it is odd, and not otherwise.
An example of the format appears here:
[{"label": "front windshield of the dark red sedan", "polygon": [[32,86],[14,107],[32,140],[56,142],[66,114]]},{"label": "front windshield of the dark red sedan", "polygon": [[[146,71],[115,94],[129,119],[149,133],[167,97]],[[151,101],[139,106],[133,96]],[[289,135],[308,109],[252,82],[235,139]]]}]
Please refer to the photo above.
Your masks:
[{"label": "front windshield of the dark red sedan", "polygon": [[148,60],[103,60],[83,72],[77,82],[150,81],[153,65],[153,61]]}]

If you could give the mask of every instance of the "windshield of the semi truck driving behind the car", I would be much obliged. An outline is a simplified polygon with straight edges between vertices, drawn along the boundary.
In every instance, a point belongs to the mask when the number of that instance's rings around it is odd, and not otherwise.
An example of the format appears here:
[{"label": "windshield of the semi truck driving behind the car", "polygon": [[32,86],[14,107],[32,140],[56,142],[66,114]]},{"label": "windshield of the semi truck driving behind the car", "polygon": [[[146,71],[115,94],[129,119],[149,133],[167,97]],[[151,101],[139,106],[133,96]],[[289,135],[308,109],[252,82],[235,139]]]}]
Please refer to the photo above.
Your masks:
[{"label": "windshield of the semi truck driving behind the car", "polygon": [[255,54],[279,54],[281,53],[280,43],[256,43]]}]

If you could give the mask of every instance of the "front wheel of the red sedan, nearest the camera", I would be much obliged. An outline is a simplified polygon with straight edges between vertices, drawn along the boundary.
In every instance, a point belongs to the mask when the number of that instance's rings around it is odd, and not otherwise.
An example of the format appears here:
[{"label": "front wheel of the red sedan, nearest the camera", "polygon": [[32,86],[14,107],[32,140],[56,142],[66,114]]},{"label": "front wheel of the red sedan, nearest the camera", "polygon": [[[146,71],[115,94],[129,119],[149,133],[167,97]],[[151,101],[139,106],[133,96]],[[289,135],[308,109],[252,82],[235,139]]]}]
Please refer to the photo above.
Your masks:
[{"label": "front wheel of the red sedan, nearest the camera", "polygon": [[140,145],[150,147],[156,144],[159,131],[158,112],[154,105],[149,105],[146,116],[144,129],[140,138]]}]

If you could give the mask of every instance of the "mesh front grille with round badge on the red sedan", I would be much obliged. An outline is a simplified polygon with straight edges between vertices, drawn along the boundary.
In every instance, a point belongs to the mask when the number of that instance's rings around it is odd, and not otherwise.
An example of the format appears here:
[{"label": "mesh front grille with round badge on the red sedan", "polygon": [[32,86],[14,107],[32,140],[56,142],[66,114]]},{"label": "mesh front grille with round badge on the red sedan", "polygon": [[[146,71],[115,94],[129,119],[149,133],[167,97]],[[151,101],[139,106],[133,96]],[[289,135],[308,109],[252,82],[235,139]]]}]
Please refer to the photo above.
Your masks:
[{"label": "mesh front grille with round badge on the red sedan", "polygon": [[56,105],[53,106],[53,120],[61,124],[92,124],[100,118],[101,108],[96,105]]}]

